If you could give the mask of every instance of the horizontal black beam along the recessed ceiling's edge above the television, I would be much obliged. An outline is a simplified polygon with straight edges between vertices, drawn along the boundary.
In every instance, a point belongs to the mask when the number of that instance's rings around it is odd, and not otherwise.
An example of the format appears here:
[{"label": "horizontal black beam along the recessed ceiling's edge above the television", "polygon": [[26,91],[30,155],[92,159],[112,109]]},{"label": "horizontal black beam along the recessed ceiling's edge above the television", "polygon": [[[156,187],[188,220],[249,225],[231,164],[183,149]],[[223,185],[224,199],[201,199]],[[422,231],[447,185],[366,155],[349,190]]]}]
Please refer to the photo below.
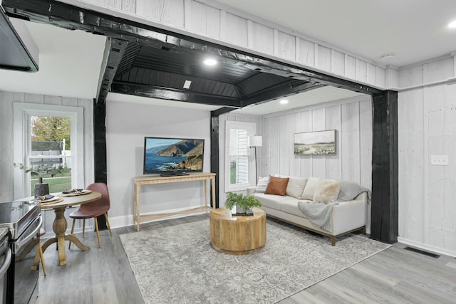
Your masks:
[{"label": "horizontal black beam along the recessed ceiling's edge above the television", "polygon": [[155,85],[120,83],[115,81],[111,85],[111,92],[147,98],[183,101],[187,103],[202,103],[204,105],[241,108],[241,102],[237,98],[220,97],[218,95],[195,93],[192,91],[177,90],[172,88],[161,88]]}]

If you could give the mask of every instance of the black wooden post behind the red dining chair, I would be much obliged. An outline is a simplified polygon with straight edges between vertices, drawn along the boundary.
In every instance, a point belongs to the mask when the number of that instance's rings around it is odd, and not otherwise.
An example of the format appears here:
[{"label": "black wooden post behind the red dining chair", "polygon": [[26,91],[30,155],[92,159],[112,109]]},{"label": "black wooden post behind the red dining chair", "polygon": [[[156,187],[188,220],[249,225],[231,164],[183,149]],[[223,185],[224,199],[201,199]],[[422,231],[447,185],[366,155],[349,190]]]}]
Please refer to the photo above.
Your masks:
[{"label": "black wooden post behind the red dining chair", "polygon": [[[93,100],[93,146],[95,150],[95,182],[108,184],[108,165],[106,164],[106,104]],[[98,229],[108,229],[105,216],[98,216]]]}]

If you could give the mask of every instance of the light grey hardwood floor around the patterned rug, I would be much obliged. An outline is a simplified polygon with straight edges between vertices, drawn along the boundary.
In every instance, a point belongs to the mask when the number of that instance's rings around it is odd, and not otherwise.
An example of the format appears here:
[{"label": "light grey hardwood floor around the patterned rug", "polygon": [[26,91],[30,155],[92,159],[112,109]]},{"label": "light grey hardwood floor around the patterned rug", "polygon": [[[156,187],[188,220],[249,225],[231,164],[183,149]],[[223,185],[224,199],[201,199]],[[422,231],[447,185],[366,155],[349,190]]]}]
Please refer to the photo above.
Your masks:
[{"label": "light grey hardwood floor around the patterned rug", "polygon": [[[142,224],[141,229],[191,221],[209,223],[209,215]],[[66,266],[58,266],[58,253],[50,246],[44,253],[48,275],[40,270],[37,303],[144,303],[118,237],[131,232],[133,226],[113,229],[113,237],[101,231],[102,248],[95,233],[86,233],[83,243],[90,251],[72,246]],[[279,303],[456,303],[456,258],[432,258],[404,247],[395,243]]]}]

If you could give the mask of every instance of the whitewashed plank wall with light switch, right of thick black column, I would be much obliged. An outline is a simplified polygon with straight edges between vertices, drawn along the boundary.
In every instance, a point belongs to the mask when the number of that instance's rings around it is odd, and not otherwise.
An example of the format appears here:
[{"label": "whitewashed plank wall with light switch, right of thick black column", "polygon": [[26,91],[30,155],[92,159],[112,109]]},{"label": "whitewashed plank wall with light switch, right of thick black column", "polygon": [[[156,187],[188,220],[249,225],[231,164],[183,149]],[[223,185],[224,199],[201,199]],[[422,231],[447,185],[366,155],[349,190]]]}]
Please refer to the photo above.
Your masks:
[{"label": "whitewashed plank wall with light switch, right of thick black column", "polygon": [[[456,82],[452,56],[402,68],[398,240],[456,256]],[[447,166],[430,164],[447,155]]]}]

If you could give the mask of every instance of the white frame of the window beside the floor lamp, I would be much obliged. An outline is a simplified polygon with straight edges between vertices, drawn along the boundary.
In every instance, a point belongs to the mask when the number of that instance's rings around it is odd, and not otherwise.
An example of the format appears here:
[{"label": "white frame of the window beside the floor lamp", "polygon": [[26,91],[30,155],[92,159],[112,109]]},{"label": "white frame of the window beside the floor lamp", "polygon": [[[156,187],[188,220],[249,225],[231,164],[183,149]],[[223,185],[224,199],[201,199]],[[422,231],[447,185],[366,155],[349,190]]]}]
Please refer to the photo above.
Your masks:
[{"label": "white frame of the window beside the floor lamp", "polygon": [[257,124],[255,122],[237,122],[232,120],[227,120],[225,125],[225,192],[235,192],[235,191],[244,191],[248,187],[254,185],[252,181],[255,182],[255,153],[254,150],[247,146],[247,162],[248,162],[248,174],[247,182],[242,184],[231,184],[230,182],[230,159],[231,155],[231,130],[247,130],[247,137],[253,136],[257,132]]}]

